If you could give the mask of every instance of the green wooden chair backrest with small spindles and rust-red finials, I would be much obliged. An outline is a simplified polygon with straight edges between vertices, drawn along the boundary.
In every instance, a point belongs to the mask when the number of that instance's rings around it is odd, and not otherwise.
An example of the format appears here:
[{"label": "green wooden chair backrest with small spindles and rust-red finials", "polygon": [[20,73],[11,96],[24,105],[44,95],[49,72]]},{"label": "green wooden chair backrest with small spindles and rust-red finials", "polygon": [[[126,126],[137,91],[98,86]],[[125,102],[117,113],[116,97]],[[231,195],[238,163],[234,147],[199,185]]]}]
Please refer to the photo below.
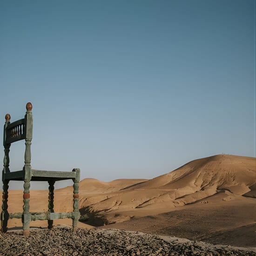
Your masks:
[{"label": "green wooden chair backrest with small spindles and rust-red finials", "polygon": [[32,104],[30,102],[26,105],[26,115],[23,119],[10,122],[11,116],[9,114],[6,114],[5,116],[5,125],[4,125],[4,148],[5,148],[5,156],[4,156],[4,169],[3,172],[10,172],[9,170],[9,151],[11,143],[15,141],[25,140],[25,167],[28,168],[30,166],[31,162],[31,151],[30,151],[30,145],[32,141],[32,135],[33,135],[33,115],[32,115]]}]

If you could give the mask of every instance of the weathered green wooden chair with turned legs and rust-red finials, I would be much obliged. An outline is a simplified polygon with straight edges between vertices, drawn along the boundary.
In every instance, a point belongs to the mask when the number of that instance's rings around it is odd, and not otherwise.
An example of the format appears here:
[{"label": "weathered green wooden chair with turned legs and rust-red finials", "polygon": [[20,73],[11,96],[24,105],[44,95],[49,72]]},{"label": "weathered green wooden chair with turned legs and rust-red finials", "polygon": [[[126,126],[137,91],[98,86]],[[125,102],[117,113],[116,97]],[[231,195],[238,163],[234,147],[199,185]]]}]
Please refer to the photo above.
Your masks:
[{"label": "weathered green wooden chair with turned legs and rust-red finials", "polygon": [[[80,169],[73,169],[71,172],[59,171],[41,171],[31,168],[31,141],[33,133],[33,115],[32,104],[26,105],[27,112],[25,118],[18,121],[10,122],[11,116],[5,116],[4,125],[4,169],[2,173],[3,181],[3,202],[1,212],[1,231],[7,232],[7,222],[9,218],[21,218],[23,223],[23,235],[29,235],[30,221],[48,220],[48,229],[53,227],[54,219],[73,219],[73,230],[77,229],[77,223],[80,217],[79,213],[79,180]],[[22,170],[10,172],[9,169],[9,151],[10,146],[15,141],[25,140],[25,165]],[[72,179],[74,182],[73,188],[73,212],[54,213],[54,183],[56,181]],[[8,213],[8,183],[9,181],[23,181],[23,212]],[[29,188],[30,181],[47,181],[49,183],[48,211],[47,212],[29,212]]]}]

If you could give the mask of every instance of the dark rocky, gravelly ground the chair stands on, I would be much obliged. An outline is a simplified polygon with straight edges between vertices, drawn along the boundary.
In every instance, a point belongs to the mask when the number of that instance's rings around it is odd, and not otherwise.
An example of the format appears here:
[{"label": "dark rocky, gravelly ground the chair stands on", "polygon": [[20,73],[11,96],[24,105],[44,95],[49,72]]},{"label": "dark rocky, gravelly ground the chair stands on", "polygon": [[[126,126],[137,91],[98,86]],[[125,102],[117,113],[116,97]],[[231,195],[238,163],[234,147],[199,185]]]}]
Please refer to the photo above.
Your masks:
[{"label": "dark rocky, gravelly ground the chair stands on", "polygon": [[0,255],[256,255],[255,251],[214,246],[178,238],[116,229],[78,229],[68,226],[0,234]]}]

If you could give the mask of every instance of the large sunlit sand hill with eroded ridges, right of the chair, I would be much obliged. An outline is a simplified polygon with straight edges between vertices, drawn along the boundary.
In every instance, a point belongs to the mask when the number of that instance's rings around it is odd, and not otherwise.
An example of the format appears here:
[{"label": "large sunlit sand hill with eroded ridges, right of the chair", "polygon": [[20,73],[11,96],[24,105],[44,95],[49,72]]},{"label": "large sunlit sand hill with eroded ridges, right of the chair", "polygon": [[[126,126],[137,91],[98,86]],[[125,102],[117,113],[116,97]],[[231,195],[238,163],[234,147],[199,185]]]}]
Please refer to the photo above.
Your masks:
[{"label": "large sunlit sand hill with eroded ridges, right of the chair", "polygon": [[[114,190],[113,190],[114,191]],[[89,195],[81,207],[108,223],[133,216],[168,212],[218,195],[221,202],[255,200],[256,159],[215,155],[189,162],[168,174],[101,195]],[[102,191],[103,192],[103,191]]]}]

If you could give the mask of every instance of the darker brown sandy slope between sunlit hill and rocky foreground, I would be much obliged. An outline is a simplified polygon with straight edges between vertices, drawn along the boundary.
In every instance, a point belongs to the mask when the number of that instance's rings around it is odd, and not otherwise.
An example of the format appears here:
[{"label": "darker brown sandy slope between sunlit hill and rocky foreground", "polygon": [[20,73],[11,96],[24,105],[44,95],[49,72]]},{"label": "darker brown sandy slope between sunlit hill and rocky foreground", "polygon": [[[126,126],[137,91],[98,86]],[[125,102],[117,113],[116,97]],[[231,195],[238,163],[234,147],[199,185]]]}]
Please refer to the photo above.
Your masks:
[{"label": "darker brown sandy slope between sunlit hill and rocky foreground", "polygon": [[254,201],[223,205],[188,205],[177,210],[126,222],[101,226],[193,241],[256,248],[256,204]]}]

